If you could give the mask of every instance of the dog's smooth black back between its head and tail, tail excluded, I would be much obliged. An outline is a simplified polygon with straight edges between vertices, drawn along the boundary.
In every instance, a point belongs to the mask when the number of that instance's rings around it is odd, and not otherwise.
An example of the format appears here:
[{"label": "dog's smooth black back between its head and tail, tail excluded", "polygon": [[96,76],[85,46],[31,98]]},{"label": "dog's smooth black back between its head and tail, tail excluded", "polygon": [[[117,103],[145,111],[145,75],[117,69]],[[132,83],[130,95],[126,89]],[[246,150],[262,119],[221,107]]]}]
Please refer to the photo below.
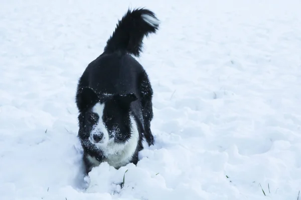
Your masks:
[{"label": "dog's smooth black back between its head and tail, tail excluded", "polygon": [[120,52],[102,54],[91,62],[82,78],[101,93],[135,93],[139,96],[137,77],[144,69],[131,55]]}]

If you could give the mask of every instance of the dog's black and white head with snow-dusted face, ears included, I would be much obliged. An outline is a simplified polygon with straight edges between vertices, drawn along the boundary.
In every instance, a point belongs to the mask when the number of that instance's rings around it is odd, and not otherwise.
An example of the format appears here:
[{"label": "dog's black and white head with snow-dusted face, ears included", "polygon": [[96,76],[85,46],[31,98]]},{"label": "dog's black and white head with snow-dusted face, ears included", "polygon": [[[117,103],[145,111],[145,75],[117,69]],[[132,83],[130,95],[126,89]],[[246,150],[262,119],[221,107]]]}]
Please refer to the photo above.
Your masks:
[{"label": "dog's black and white head with snow-dusted face, ears included", "polygon": [[79,123],[83,135],[97,146],[130,137],[130,103],[137,97],[127,94],[99,94],[85,87],[77,94]]}]

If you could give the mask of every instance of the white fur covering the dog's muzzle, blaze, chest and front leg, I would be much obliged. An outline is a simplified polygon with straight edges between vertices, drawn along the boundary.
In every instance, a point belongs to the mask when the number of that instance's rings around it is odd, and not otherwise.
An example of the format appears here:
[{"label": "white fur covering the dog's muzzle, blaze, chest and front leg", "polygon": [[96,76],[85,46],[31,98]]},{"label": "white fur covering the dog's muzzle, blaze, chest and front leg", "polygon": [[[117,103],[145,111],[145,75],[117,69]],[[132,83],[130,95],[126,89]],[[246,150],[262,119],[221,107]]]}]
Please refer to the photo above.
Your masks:
[{"label": "white fur covering the dog's muzzle, blaze, chest and front leg", "polygon": [[[93,112],[99,115],[99,121],[95,128],[93,128],[89,139],[93,144],[95,144],[98,148],[100,148],[103,151],[104,156],[106,157],[106,159],[103,161],[107,161],[111,166],[114,167],[124,166],[127,163],[129,163],[138,145],[139,132],[137,124],[134,118],[130,116],[132,130],[131,137],[124,143],[115,143],[114,138],[109,139],[108,131],[102,121],[103,109],[104,104],[101,103],[96,103],[93,107]],[[104,136],[102,141],[98,143],[94,142],[92,137],[93,131],[103,132]],[[100,164],[99,161],[97,161],[94,157],[90,155],[88,155],[87,158],[94,166]]]}]

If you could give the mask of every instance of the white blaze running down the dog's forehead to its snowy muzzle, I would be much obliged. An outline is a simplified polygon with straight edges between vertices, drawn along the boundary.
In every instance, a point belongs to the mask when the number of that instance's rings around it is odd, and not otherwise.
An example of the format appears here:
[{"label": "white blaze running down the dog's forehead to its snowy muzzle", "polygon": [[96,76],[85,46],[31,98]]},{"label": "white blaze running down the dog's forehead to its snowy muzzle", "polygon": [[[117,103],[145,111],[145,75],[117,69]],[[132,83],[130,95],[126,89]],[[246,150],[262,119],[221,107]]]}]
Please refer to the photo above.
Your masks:
[{"label": "white blaze running down the dog's forehead to its snowy muzzle", "polygon": [[[94,143],[97,146],[106,146],[108,141],[109,141],[109,133],[108,130],[105,127],[105,124],[102,120],[102,115],[103,115],[103,109],[104,109],[104,103],[96,103],[94,105],[94,107],[92,108],[92,111],[95,112],[96,114],[98,114],[99,118],[98,121],[96,123],[96,125],[93,127],[91,134],[90,134],[90,141],[92,143]],[[97,133],[103,133],[103,138],[101,141],[99,142],[95,142],[93,139],[93,134],[97,134]]]}]

